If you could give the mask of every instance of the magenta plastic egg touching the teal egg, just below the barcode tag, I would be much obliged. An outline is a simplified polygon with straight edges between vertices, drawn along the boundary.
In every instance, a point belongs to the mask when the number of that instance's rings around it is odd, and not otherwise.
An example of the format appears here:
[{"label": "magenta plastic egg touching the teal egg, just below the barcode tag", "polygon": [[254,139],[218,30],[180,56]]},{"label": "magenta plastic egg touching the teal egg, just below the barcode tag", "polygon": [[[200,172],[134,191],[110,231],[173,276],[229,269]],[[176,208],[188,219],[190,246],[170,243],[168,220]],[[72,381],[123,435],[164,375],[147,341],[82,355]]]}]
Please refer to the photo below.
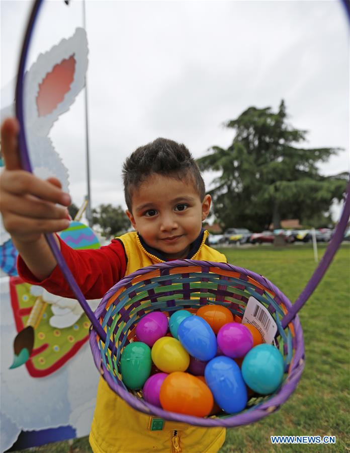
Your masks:
[{"label": "magenta plastic egg touching the teal egg, just below the barcode tag", "polygon": [[231,358],[243,357],[253,347],[253,336],[244,324],[226,324],[217,339],[219,348]]}]

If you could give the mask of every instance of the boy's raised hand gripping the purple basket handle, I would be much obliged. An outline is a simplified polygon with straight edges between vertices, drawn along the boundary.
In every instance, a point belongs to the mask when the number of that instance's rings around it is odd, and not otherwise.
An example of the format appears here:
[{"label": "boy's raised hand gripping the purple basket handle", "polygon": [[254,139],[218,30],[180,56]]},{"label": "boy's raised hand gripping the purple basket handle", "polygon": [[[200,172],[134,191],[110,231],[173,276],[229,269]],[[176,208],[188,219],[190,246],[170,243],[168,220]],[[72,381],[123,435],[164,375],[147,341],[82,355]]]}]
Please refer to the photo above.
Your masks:
[{"label": "boy's raised hand gripping the purple basket handle", "polygon": [[70,196],[61,190],[58,179],[44,181],[21,170],[18,131],[14,118],[5,120],[1,128],[5,169],[0,176],[0,211],[16,243],[35,243],[43,233],[68,227],[69,214],[64,206],[69,206]]}]

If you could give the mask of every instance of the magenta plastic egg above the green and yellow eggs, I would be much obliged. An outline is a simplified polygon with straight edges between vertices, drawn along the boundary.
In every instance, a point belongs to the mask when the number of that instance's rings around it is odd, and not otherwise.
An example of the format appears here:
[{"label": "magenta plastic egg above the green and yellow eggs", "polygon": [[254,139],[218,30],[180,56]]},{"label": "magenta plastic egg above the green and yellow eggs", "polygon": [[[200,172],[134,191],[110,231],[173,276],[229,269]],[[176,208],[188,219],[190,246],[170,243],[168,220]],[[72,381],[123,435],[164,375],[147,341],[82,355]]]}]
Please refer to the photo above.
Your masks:
[{"label": "magenta plastic egg above the green and yellow eggs", "polygon": [[151,312],[143,316],[136,325],[136,335],[140,341],[152,347],[153,344],[163,337],[168,328],[166,315],[161,312]]}]

